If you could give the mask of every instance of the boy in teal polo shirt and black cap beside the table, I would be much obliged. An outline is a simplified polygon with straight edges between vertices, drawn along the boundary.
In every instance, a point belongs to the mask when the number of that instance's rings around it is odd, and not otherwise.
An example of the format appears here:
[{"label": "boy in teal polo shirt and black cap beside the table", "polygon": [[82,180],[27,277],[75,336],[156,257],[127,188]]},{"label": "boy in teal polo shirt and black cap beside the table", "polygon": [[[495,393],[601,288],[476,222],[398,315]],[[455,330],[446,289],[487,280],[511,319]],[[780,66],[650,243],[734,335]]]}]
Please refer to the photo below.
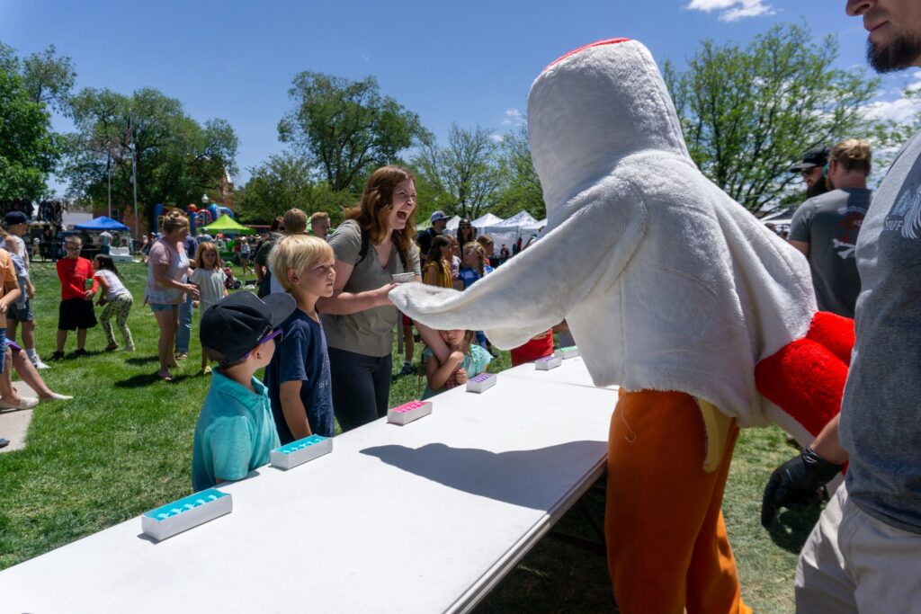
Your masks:
[{"label": "boy in teal polo shirt and black cap beside the table", "polygon": [[192,488],[198,492],[222,481],[242,480],[269,462],[280,445],[268,392],[253,374],[268,365],[279,325],[296,307],[291,296],[264,301],[239,292],[202,315],[204,352],[220,365],[211,379],[192,446]]}]

